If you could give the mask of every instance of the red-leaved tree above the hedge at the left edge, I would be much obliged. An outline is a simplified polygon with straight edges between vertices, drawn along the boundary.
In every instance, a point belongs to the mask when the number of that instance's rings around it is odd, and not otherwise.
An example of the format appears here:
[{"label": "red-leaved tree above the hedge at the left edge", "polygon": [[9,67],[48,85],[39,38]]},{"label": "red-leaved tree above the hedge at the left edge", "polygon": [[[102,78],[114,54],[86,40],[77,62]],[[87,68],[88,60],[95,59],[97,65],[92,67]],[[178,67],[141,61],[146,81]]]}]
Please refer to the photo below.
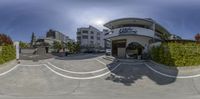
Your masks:
[{"label": "red-leaved tree above the hedge at the left edge", "polygon": [[0,34],[0,46],[12,45],[12,44],[13,44],[13,41],[9,36],[7,36],[6,34]]}]

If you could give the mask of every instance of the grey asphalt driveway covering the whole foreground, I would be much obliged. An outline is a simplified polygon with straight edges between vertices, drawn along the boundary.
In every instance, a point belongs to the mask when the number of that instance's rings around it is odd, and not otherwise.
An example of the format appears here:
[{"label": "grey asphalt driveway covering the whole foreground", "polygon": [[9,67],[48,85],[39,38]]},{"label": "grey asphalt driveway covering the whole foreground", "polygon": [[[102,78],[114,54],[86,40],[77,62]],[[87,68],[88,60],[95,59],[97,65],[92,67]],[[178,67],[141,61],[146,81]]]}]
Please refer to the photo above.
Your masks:
[{"label": "grey asphalt driveway covering the whole foreground", "polygon": [[[199,77],[167,77],[143,62],[112,62],[104,60],[102,56],[73,58],[21,61],[17,66],[12,64],[1,68],[0,98],[200,98]],[[152,64],[149,66],[156,70]],[[167,75],[178,76],[178,71],[177,74]]]}]

